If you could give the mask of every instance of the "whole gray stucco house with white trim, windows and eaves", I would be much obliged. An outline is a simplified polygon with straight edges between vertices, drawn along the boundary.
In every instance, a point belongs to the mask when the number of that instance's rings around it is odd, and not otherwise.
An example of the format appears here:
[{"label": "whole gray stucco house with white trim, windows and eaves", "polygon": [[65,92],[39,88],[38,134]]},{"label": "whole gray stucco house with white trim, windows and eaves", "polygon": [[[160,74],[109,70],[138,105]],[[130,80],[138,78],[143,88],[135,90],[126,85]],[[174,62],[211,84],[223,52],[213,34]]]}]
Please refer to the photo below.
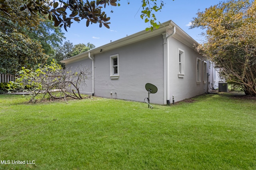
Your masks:
[{"label": "whole gray stucco house with white trim, windows and eaves", "polygon": [[203,94],[218,85],[213,64],[197,53],[198,44],[173,21],[140,31],[63,60],[66,67],[86,65],[92,80],[84,94],[143,102],[146,83],[157,86],[150,103],[168,104]]}]

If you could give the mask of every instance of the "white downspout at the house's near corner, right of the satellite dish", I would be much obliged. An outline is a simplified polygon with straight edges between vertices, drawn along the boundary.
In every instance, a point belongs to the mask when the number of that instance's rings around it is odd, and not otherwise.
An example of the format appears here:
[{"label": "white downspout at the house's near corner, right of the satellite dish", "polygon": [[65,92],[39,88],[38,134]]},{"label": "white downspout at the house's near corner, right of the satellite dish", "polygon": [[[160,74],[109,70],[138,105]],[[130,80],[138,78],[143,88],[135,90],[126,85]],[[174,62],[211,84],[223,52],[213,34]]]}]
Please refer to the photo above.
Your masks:
[{"label": "white downspout at the house's near corner, right of the satellite dish", "polygon": [[[165,37],[164,39],[164,58],[166,59],[166,68],[164,69],[166,71],[166,81],[164,81],[164,84],[166,84],[166,94],[164,95],[164,98],[166,98],[166,104],[170,105],[170,63],[169,63],[169,44],[168,44],[168,38],[172,37],[176,33],[176,27],[172,27],[172,33]],[[166,35],[165,35],[166,36]],[[164,101],[165,102],[165,101]]]}]

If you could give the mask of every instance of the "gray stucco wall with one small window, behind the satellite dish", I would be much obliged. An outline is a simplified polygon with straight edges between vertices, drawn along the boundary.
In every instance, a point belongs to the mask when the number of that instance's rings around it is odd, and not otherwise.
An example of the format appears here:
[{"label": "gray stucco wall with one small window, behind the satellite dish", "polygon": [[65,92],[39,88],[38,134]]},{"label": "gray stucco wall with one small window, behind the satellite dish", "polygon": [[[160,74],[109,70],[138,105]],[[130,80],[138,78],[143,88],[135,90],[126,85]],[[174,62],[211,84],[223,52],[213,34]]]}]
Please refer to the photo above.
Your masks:
[{"label": "gray stucco wall with one small window, behind the satellite dish", "polygon": [[[110,78],[110,56],[119,54],[119,78]],[[150,102],[164,103],[162,35],[94,55],[95,95],[143,102],[146,83],[158,87]],[[112,92],[112,95],[110,94]],[[116,94],[115,94],[116,93]]]}]

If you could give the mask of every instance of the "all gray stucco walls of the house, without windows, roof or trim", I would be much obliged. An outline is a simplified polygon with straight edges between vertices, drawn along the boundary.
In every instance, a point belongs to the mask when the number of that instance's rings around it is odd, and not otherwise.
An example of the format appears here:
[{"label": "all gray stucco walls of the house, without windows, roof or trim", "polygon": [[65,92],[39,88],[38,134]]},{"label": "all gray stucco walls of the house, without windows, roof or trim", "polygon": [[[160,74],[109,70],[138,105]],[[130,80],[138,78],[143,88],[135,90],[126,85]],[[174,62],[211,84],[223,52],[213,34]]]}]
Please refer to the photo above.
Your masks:
[{"label": "all gray stucco walls of the house, without windows, roof or trim", "polygon": [[[168,39],[169,51],[169,96],[172,103],[172,95],[176,102],[206,92],[207,83],[204,82],[204,60],[202,56],[181,43],[174,37]],[[145,89],[146,83],[157,86],[158,92],[150,94],[150,103],[164,104],[164,39],[162,35],[119,47],[113,50],[102,51],[94,54],[94,95],[104,98],[116,98],[143,102],[148,97]],[[178,76],[178,53],[184,51],[184,76]],[[110,78],[110,56],[119,55],[119,78]],[[197,58],[201,59],[201,82],[196,81]],[[209,82],[212,83],[214,74],[209,69]],[[83,59],[71,64],[72,70],[77,66],[86,65],[92,71],[92,60]],[[217,82],[217,79],[216,79]],[[92,80],[86,80],[87,86],[80,86],[80,91],[92,94]],[[213,82],[214,84],[214,82]],[[214,84],[215,86],[215,84]],[[112,94],[111,94],[112,92]]]}]

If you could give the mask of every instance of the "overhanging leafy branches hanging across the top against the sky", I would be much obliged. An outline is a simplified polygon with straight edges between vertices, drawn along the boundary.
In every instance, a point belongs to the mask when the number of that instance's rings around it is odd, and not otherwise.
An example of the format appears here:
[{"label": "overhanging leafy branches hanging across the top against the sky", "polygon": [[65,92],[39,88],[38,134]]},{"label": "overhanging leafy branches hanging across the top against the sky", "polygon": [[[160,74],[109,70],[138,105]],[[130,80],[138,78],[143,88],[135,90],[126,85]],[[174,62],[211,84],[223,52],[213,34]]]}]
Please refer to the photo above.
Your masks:
[{"label": "overhanging leafy branches hanging across the top against the sky", "polygon": [[[107,17],[106,12],[102,11],[102,8],[106,8],[107,4],[110,6],[120,6],[120,3],[117,3],[117,1],[119,2],[120,0],[29,0],[20,6],[20,10],[26,10],[34,16],[37,13],[47,15],[49,20],[54,21],[54,26],[64,26],[66,31],[73,21],[79,22],[83,19],[86,20],[87,27],[90,23],[99,23],[100,27],[104,25],[109,28],[110,17]],[[128,4],[130,4],[129,0]],[[158,12],[163,6],[162,0],[142,0],[143,10],[141,11],[141,18],[151,24],[151,27],[147,28],[147,30],[159,27],[159,24],[156,23],[156,17],[152,12]],[[68,14],[67,10],[71,14]],[[8,0],[0,0],[0,11],[6,14],[6,16],[11,15],[12,8],[8,4]]]}]

